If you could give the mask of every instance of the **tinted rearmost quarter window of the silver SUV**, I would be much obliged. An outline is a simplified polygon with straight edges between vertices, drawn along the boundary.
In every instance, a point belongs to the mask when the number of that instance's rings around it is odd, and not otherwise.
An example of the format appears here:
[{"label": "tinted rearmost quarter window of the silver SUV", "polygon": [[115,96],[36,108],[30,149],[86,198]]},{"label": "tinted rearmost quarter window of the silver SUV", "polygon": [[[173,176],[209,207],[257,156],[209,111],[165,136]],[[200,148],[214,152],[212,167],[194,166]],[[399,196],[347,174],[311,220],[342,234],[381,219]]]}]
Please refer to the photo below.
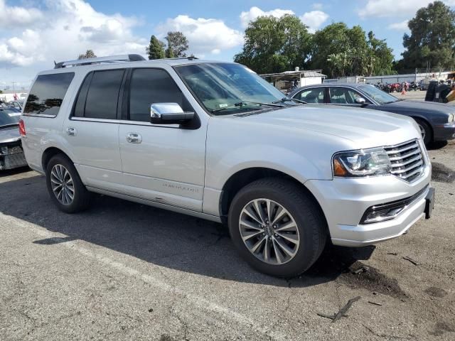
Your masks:
[{"label": "tinted rearmost quarter window of the silver SUV", "polygon": [[23,113],[57,116],[73,77],[74,72],[38,76],[28,94]]}]

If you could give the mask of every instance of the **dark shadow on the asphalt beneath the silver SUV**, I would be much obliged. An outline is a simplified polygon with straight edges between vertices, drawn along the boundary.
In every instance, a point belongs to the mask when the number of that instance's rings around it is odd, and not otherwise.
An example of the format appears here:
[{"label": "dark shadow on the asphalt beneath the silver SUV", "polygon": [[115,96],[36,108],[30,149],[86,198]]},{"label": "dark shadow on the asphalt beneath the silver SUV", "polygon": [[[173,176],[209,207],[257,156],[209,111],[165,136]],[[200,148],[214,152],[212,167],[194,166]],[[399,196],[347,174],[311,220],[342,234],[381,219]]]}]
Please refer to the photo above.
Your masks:
[{"label": "dark shadow on the asphalt beneath the silver SUV", "polygon": [[65,234],[34,242],[42,247],[80,239],[151,264],[232,281],[314,286],[335,280],[374,250],[328,246],[303,276],[284,280],[247,266],[227,229],[215,222],[102,195],[93,196],[90,210],[67,215],[50,201],[41,175],[0,183],[0,193],[0,212]]}]

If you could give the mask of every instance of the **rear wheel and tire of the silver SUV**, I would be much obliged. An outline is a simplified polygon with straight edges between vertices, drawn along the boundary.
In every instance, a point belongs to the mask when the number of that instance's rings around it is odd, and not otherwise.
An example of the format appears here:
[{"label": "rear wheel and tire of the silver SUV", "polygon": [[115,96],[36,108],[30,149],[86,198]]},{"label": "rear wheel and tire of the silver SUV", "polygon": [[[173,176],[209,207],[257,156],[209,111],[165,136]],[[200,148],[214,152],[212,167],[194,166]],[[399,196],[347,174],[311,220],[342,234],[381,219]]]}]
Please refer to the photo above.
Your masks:
[{"label": "rear wheel and tire of the silver SUV", "polygon": [[65,213],[86,210],[90,193],[80,180],[73,162],[62,154],[50,158],[45,170],[45,180],[50,199]]}]

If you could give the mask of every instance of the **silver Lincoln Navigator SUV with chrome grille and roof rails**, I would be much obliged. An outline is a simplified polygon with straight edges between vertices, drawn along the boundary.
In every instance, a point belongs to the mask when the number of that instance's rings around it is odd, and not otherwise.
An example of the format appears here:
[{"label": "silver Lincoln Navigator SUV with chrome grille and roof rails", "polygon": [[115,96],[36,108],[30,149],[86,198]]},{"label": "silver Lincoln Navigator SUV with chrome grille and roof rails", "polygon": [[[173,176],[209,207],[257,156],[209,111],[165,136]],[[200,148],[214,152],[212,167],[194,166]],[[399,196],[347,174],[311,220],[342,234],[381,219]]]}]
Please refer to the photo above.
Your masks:
[{"label": "silver Lincoln Navigator SUV with chrome grille and roof rails", "polygon": [[245,260],[274,276],[309,269],[328,238],[398,237],[434,202],[412,119],[311,106],[235,63],[58,63],[36,77],[19,127],[63,212],[95,192],[224,222]]}]

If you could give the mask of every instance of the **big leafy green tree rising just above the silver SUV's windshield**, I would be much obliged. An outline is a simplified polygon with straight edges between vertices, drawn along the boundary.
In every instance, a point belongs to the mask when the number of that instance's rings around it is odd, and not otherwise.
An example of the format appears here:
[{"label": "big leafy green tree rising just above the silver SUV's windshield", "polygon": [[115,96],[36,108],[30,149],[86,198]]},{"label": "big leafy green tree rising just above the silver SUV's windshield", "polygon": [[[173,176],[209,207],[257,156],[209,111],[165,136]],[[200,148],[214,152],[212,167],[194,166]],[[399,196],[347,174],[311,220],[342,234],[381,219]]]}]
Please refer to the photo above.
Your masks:
[{"label": "big leafy green tree rising just above the silver SUV's windshield", "polygon": [[249,23],[234,60],[259,73],[293,70],[306,63],[310,42],[307,27],[296,16],[262,16]]}]

